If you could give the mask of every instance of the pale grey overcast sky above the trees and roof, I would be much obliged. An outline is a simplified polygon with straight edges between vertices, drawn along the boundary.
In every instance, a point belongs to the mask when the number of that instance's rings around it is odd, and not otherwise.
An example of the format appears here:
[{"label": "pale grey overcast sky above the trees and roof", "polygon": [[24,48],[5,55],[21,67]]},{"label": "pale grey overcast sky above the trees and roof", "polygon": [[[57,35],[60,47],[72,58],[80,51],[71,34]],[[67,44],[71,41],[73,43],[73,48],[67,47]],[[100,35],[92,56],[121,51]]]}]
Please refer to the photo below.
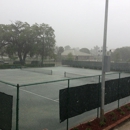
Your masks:
[{"label": "pale grey overcast sky above the trees and roof", "polygon": [[[49,24],[56,45],[103,45],[106,0],[0,0],[0,24]],[[107,47],[130,46],[130,0],[109,0]]]}]

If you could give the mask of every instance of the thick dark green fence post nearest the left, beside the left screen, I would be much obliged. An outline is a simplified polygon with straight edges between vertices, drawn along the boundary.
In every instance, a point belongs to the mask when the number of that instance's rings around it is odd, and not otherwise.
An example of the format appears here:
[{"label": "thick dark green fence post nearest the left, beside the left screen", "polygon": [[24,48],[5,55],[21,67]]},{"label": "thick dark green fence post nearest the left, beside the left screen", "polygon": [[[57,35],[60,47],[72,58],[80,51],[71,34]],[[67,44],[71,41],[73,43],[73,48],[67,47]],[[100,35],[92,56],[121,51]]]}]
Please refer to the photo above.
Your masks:
[{"label": "thick dark green fence post nearest the left, beside the left screen", "polygon": [[16,99],[16,130],[19,130],[19,84],[17,84],[17,99]]}]

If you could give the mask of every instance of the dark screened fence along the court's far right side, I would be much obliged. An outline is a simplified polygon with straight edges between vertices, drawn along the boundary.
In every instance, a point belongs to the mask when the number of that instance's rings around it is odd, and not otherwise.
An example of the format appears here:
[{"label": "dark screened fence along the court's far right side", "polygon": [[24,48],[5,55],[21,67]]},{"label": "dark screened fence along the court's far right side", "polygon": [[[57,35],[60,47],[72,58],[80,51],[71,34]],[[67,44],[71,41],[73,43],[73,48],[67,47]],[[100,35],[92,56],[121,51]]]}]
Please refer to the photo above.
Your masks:
[{"label": "dark screened fence along the court's far right side", "polygon": [[[68,61],[63,60],[62,65],[69,65],[72,67],[81,67],[89,69],[102,69],[102,62],[98,61]],[[112,71],[130,72],[130,63],[111,63]]]}]

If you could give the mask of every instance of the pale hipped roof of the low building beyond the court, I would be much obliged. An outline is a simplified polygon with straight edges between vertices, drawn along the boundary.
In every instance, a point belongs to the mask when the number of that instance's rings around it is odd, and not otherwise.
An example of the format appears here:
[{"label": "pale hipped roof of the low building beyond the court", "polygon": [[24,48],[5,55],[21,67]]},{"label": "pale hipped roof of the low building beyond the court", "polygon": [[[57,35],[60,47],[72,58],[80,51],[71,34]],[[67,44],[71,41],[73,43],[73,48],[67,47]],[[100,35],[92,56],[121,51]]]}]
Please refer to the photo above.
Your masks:
[{"label": "pale hipped roof of the low building beyond the court", "polygon": [[91,54],[80,52],[75,49],[65,50],[63,53],[61,53],[61,55],[66,56],[69,53],[71,53],[73,56],[91,56]]}]

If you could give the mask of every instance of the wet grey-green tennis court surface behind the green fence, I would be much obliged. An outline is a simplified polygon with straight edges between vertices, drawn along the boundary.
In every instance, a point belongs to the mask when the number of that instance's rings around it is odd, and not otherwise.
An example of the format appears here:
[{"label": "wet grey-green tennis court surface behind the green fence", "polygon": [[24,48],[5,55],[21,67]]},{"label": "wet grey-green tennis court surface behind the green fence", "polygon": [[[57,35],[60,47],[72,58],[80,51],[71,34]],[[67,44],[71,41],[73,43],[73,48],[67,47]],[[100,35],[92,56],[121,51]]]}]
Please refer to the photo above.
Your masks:
[{"label": "wet grey-green tennis court surface behind the green fence", "polygon": [[[106,80],[119,78],[119,73],[111,72],[109,74],[111,75],[107,75]],[[13,95],[12,130],[16,127],[17,94],[16,87],[12,85],[19,84],[20,86],[19,130],[44,130],[45,128],[48,130],[65,130],[66,121],[60,123],[59,120],[59,90],[68,87],[67,79],[69,77],[90,76],[88,78],[70,80],[70,87],[73,87],[93,82],[98,83],[98,75],[101,75],[99,70],[72,67],[0,70],[0,80],[10,84],[0,83],[0,92]],[[121,74],[121,77],[127,76],[129,76],[127,73]],[[128,98],[123,99],[122,104],[127,101],[129,101]],[[117,102],[107,105],[106,111],[112,109],[112,107],[116,108]],[[97,109],[71,118],[69,127],[71,128],[96,117],[96,113]]]}]

